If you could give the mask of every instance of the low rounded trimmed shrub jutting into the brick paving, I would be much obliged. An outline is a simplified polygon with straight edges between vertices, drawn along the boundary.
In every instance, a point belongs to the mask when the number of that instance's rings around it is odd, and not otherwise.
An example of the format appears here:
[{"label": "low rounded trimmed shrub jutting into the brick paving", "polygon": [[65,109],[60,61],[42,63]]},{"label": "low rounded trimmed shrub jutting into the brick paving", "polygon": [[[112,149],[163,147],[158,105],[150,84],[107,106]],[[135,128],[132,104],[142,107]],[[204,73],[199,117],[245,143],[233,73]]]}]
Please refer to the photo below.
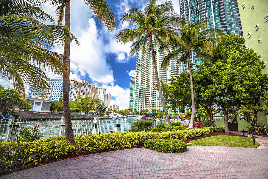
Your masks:
[{"label": "low rounded trimmed shrub jutting into the brick paving", "polygon": [[148,139],[144,147],[158,152],[178,153],[187,150],[187,143],[177,139]]}]

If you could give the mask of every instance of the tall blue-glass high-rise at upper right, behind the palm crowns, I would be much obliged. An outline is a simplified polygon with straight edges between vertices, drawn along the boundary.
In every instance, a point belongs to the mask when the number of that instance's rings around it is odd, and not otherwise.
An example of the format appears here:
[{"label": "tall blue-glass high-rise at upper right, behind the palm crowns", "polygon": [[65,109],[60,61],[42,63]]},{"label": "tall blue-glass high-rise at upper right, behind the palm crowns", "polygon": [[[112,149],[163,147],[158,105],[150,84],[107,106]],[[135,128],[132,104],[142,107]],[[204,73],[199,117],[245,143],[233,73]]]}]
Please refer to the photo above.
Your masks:
[{"label": "tall blue-glass high-rise at upper right, behind the palm crowns", "polygon": [[[243,37],[237,0],[180,0],[180,14],[188,22],[195,24],[207,20],[209,29],[220,29],[228,35]],[[195,52],[192,52],[191,59],[194,64],[202,64]],[[185,70],[186,67],[187,64],[184,65]]]}]

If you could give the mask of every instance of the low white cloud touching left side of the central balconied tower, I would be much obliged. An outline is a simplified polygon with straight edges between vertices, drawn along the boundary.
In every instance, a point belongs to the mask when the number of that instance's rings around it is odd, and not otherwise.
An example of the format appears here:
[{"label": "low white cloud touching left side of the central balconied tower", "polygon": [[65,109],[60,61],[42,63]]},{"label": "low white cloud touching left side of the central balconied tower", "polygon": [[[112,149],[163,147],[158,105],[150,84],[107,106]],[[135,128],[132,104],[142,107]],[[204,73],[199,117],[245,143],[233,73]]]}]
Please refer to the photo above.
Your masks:
[{"label": "low white cloud touching left side of the central balconied tower", "polygon": [[119,107],[129,108],[129,93],[128,88],[123,89],[118,85],[102,85],[102,87],[107,89],[107,93],[111,93],[115,100],[111,100],[111,104],[116,104]]}]

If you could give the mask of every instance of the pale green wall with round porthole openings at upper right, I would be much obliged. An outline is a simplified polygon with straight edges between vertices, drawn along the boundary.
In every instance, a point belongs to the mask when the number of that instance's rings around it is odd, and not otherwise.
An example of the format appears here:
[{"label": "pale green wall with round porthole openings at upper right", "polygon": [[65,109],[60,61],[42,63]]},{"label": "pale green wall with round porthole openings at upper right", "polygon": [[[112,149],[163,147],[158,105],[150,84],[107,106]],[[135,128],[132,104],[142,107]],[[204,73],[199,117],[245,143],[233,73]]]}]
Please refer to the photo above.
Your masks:
[{"label": "pale green wall with round porthole openings at upper right", "polygon": [[[268,21],[264,21],[264,16],[268,14],[267,0],[237,0],[243,36],[246,40],[247,48],[252,48],[256,53],[261,55],[261,60],[266,61],[267,65],[264,72],[268,73]],[[244,9],[242,5],[245,3]],[[252,10],[252,6],[254,9]],[[259,29],[255,30],[255,26],[259,25]],[[251,33],[250,38],[247,34]],[[261,39],[261,43],[258,40]]]}]

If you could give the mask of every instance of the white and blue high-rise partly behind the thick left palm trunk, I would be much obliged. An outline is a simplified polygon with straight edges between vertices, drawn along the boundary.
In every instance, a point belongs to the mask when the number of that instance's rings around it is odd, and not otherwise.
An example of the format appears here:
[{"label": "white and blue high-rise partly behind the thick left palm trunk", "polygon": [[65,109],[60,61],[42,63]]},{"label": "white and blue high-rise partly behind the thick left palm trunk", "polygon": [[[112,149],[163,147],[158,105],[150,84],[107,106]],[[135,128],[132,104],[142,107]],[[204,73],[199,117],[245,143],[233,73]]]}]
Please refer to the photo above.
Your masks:
[{"label": "white and blue high-rise partly behind the thick left palm trunk", "polygon": [[[52,98],[54,100],[59,100],[63,98],[63,78],[54,78],[48,79],[49,91],[45,93],[45,96],[48,98]],[[70,83],[70,92],[69,95],[71,97],[73,83]],[[32,86],[29,88],[28,95],[40,96],[41,92],[32,91]]]}]

